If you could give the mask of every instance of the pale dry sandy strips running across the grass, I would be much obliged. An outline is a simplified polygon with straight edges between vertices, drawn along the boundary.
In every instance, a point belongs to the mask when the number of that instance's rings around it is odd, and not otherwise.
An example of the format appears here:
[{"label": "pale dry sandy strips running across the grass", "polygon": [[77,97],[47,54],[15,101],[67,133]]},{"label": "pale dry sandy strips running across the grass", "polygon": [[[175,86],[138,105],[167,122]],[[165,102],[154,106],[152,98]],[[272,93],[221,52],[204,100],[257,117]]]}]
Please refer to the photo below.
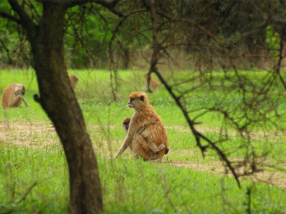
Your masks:
[{"label": "pale dry sandy strips running across the grass", "polygon": [[[93,127],[94,128],[94,127]],[[185,127],[175,127],[178,131],[189,132]],[[255,134],[253,134],[255,135]],[[91,138],[93,138],[91,136]],[[123,140],[123,139],[122,139]],[[92,139],[93,141],[93,139]],[[0,143],[14,146],[26,146],[31,148],[44,148],[49,146],[61,147],[60,140],[55,132],[55,128],[52,124],[43,124],[43,123],[35,123],[35,122],[21,122],[18,124],[16,122],[0,122]],[[96,144],[94,144],[95,150],[98,153],[100,150],[100,155],[102,152],[101,148],[98,148]],[[106,149],[108,150],[108,149]],[[172,152],[172,150],[171,150]],[[190,153],[190,151],[186,151]],[[105,154],[106,155],[106,154]],[[234,163],[239,160],[231,160]],[[178,167],[189,167],[196,169],[198,171],[208,171],[211,173],[217,173],[225,176],[232,176],[231,173],[226,173],[225,167],[222,165],[220,161],[214,161],[208,164],[200,164],[200,163],[191,163],[191,161],[168,161],[168,163],[172,166]],[[239,169],[236,172],[238,174],[243,173],[243,169]],[[253,179],[255,181],[260,181],[263,183],[267,183],[269,185],[274,185],[281,188],[286,188],[286,172],[278,171],[273,169],[260,171],[255,173],[254,175],[250,175],[247,177],[241,177],[240,179]]]}]

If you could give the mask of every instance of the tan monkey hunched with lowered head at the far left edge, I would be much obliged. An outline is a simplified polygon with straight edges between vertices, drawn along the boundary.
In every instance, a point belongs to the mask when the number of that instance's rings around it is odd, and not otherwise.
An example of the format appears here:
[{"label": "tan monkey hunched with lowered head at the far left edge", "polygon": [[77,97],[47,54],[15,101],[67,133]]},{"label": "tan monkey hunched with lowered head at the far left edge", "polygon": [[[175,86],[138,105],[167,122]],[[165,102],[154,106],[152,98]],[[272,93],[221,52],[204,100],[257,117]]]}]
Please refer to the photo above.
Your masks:
[{"label": "tan monkey hunched with lowered head at the far left edge", "polygon": [[24,94],[25,94],[24,85],[16,83],[10,84],[4,89],[2,93],[1,97],[2,107],[3,108],[21,107],[22,100],[25,103],[25,105],[29,107],[26,100],[23,98]]}]

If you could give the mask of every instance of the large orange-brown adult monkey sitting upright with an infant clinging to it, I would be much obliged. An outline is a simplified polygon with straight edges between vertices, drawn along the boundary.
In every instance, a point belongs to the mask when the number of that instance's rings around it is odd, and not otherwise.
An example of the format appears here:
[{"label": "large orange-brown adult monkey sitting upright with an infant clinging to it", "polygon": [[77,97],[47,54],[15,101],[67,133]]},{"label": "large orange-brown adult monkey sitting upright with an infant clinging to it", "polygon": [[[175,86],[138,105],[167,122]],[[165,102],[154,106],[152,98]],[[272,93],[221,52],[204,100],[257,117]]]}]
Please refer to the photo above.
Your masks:
[{"label": "large orange-brown adult monkey sitting upright with an infant clinging to it", "polygon": [[[145,161],[161,161],[170,148],[168,146],[167,132],[160,117],[149,104],[146,93],[133,92],[129,98],[128,107],[134,109],[134,114],[131,117],[126,138],[113,158],[122,154],[131,144],[134,159],[139,156]],[[147,126],[141,134],[137,133],[152,121],[155,121],[155,124]],[[156,146],[163,144],[165,148],[159,152],[153,152],[150,149],[151,143],[154,143]]]}]

